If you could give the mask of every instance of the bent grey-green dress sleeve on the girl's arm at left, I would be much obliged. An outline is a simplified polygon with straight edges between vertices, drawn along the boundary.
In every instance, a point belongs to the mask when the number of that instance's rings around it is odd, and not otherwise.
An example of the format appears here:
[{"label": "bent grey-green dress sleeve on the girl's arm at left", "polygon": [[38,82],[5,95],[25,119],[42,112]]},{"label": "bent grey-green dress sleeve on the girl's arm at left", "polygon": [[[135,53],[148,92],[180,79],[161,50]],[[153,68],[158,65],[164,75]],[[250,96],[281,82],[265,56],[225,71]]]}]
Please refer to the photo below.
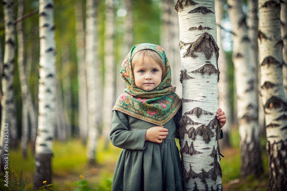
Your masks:
[{"label": "bent grey-green dress sleeve on the girl's arm at left", "polygon": [[116,147],[131,150],[144,150],[147,145],[146,129],[129,130],[128,115],[114,110],[110,141]]}]

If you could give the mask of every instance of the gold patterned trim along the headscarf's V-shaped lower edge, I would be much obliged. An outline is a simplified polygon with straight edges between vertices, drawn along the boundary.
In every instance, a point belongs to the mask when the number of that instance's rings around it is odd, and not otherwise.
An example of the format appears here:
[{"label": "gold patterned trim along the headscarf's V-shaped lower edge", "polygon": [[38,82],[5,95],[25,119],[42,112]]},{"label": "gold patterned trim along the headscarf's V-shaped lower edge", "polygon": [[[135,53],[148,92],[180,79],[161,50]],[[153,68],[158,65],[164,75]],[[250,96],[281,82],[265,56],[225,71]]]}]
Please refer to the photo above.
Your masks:
[{"label": "gold patterned trim along the headscarf's V-shaped lower edge", "polygon": [[174,111],[172,111],[172,113],[171,113],[166,119],[164,119],[164,120],[162,120],[162,121],[158,121],[158,120],[155,120],[155,119],[150,119],[150,118],[148,118],[148,117],[144,117],[144,116],[142,116],[142,115],[135,114],[135,113],[133,113],[133,112],[131,112],[131,111],[128,111],[128,110],[123,109],[123,108],[118,107],[118,106],[114,106],[114,108],[113,108],[112,111],[114,111],[114,110],[121,111],[121,112],[123,112],[123,113],[125,113],[125,114],[127,114],[127,115],[130,115],[130,116],[132,116],[132,117],[135,117],[135,118],[137,118],[137,119],[141,119],[141,120],[143,120],[143,121],[147,121],[147,122],[149,122],[149,123],[153,123],[153,124],[156,124],[156,125],[161,126],[161,125],[163,125],[164,123],[168,122],[168,121],[177,113],[177,111],[179,110],[179,108],[181,107],[181,104],[182,104],[181,100],[180,100],[179,102],[180,102],[180,103],[177,105],[177,107],[174,109]]}]

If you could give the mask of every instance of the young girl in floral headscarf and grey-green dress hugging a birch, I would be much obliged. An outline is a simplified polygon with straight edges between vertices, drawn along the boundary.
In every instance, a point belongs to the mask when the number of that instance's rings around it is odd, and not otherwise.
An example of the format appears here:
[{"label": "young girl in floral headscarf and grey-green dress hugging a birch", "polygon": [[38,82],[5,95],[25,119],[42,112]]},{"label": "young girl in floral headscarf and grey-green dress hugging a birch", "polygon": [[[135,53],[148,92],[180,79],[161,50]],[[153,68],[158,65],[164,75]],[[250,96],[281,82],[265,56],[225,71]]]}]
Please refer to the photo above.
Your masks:
[{"label": "young girl in floral headscarf and grey-green dress hugging a birch", "polygon": [[[179,150],[181,99],[171,86],[170,65],[162,47],[133,46],[121,76],[127,85],[113,108],[110,140],[122,148],[112,190],[183,190]],[[216,114],[223,126],[226,117]]]}]

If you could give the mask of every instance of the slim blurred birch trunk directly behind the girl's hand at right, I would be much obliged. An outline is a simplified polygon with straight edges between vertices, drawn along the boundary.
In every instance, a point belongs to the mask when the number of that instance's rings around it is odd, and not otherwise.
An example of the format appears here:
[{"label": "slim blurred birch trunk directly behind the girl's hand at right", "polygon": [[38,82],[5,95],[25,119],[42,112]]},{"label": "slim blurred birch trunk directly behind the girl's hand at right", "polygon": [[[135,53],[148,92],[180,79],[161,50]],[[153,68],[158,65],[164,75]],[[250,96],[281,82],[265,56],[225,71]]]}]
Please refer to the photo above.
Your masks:
[{"label": "slim blurred birch trunk directly behind the girl's hand at right", "polygon": [[218,68],[220,70],[220,80],[217,84],[218,90],[218,107],[224,111],[226,115],[226,123],[222,129],[224,138],[220,139],[219,145],[221,148],[230,147],[229,142],[229,131],[232,122],[232,112],[231,112],[231,103],[229,95],[229,79],[228,79],[228,65],[226,62],[226,54],[222,48],[222,38],[221,38],[221,27],[220,21],[223,18],[223,1],[215,0],[215,17],[216,17],[216,30],[217,30],[217,42],[219,48],[219,57],[218,57]]}]

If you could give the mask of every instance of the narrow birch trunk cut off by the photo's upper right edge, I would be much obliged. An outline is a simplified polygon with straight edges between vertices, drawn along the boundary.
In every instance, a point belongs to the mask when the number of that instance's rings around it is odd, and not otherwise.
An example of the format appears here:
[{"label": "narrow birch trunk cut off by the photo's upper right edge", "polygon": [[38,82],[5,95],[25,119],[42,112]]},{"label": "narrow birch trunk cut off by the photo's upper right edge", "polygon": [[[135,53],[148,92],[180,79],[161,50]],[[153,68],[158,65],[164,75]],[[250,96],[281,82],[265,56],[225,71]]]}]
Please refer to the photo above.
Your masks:
[{"label": "narrow birch trunk cut off by the photo's upper right edge", "polygon": [[281,0],[281,33],[283,40],[283,85],[287,96],[287,0]]}]

